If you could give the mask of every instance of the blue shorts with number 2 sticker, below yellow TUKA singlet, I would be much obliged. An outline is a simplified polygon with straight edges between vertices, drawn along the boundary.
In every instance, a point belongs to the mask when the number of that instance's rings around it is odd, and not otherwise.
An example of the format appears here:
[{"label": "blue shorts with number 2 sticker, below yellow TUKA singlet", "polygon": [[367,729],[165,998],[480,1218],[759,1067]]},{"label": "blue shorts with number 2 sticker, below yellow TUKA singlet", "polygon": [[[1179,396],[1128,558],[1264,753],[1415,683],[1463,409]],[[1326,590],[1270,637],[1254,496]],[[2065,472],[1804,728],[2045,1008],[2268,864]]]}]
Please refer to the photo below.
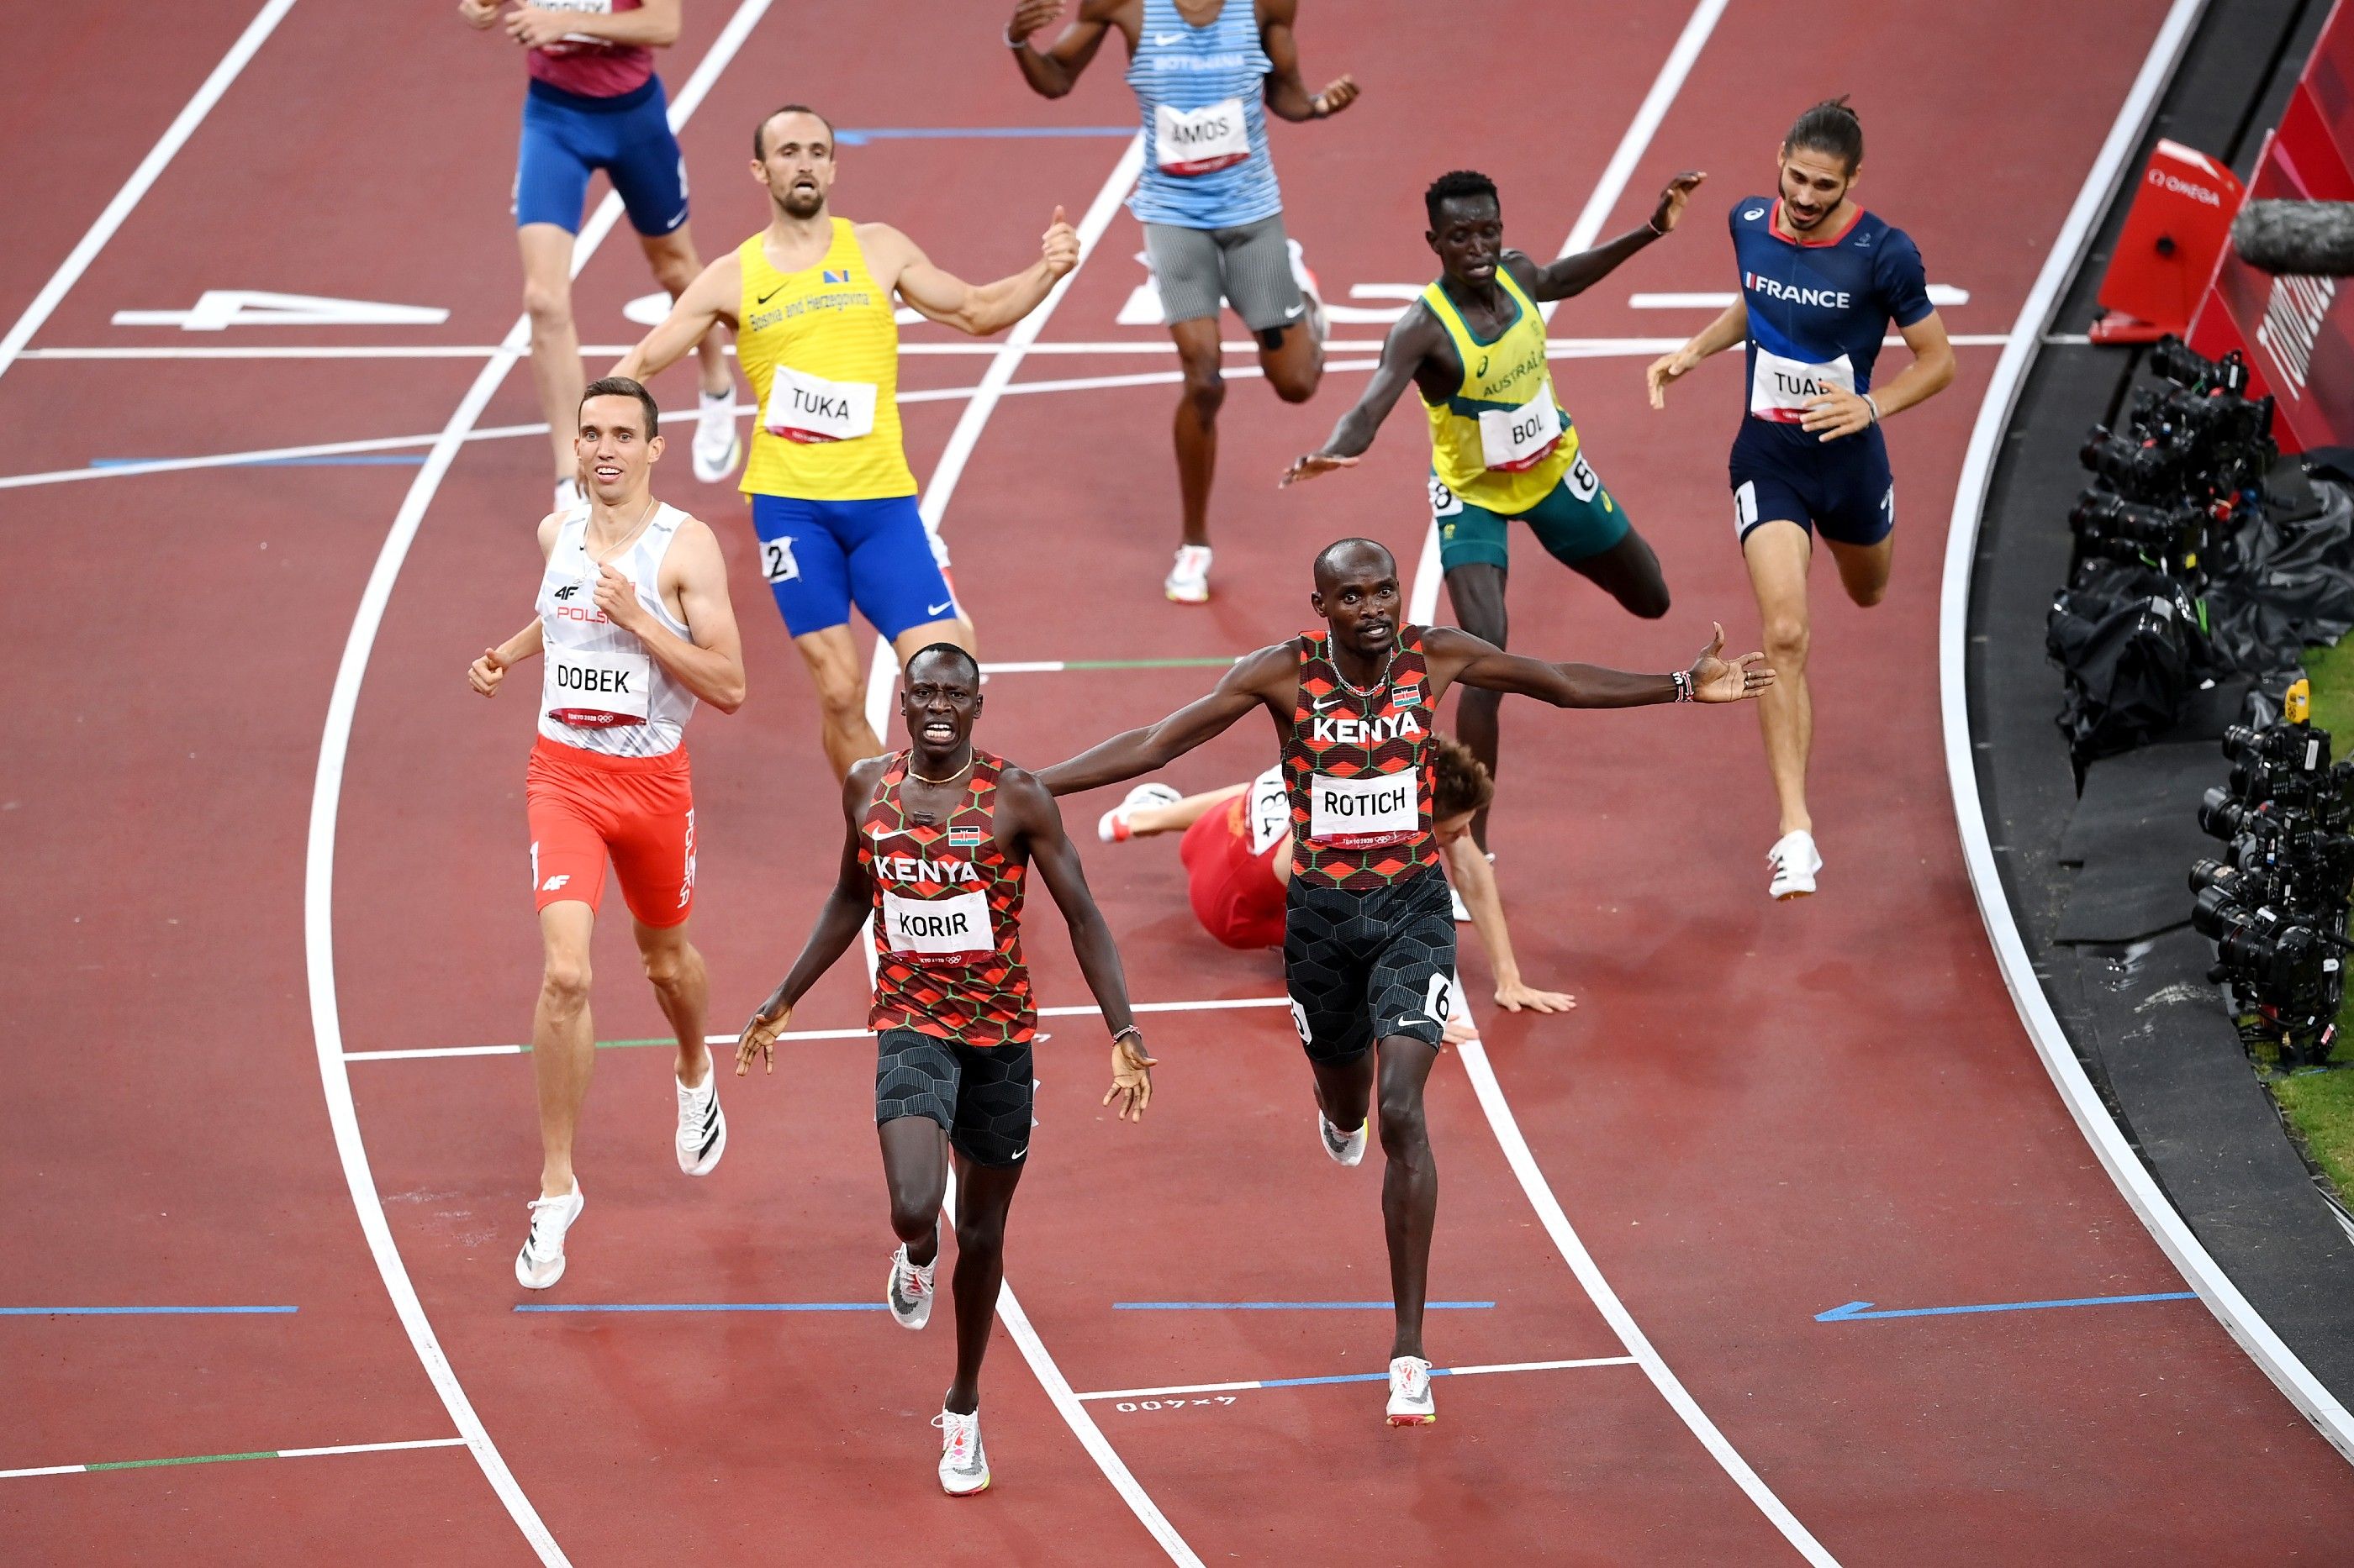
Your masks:
[{"label": "blue shorts with number 2 sticker, below yellow TUKA singlet", "polygon": [[883,640],[956,619],[956,593],[911,494],[876,501],[756,494],[751,530],[760,534],[760,577],[796,638],[845,626],[852,600]]}]

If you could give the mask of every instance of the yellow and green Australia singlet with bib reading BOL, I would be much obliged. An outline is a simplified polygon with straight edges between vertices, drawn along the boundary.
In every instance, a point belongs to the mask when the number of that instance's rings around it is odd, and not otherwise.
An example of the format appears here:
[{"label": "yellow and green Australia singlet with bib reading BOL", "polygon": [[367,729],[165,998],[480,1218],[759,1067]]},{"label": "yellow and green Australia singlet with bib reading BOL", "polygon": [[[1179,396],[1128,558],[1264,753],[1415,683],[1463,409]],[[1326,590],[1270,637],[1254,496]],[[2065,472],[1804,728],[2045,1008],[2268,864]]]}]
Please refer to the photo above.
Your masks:
[{"label": "yellow and green Australia singlet with bib reading BOL", "polygon": [[1511,294],[1514,318],[1492,339],[1481,339],[1464,325],[1445,287],[1434,283],[1422,290],[1464,363],[1455,396],[1445,403],[1424,400],[1422,412],[1431,419],[1431,473],[1438,483],[1464,501],[1509,518],[1542,501],[1577,461],[1577,426],[1554,398],[1554,372],[1544,365],[1544,315],[1502,266],[1495,280]]}]

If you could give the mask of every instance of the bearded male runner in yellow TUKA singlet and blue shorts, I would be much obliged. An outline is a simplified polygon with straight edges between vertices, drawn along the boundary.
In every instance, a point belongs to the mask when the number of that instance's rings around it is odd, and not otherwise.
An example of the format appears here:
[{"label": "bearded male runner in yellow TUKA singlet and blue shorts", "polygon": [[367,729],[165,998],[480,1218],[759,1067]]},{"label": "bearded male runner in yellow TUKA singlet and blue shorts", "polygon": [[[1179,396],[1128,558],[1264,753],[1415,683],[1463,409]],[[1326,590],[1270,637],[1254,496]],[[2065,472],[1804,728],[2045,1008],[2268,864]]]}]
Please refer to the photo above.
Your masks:
[{"label": "bearded male runner in yellow TUKA singlet and blue shorts", "polygon": [[930,643],[972,647],[899,443],[892,297],[989,337],[1038,308],[1078,266],[1078,233],[1057,207],[1038,261],[996,283],[965,283],[890,224],[852,224],[826,210],[833,127],[800,104],[753,127],[751,174],[767,188],[767,228],[706,266],[614,374],[647,379],[713,323],[734,327],[758,407],[744,492],[760,574],[810,666],[826,760],[843,777],[883,751],[866,723],[850,605],[902,662]]}]

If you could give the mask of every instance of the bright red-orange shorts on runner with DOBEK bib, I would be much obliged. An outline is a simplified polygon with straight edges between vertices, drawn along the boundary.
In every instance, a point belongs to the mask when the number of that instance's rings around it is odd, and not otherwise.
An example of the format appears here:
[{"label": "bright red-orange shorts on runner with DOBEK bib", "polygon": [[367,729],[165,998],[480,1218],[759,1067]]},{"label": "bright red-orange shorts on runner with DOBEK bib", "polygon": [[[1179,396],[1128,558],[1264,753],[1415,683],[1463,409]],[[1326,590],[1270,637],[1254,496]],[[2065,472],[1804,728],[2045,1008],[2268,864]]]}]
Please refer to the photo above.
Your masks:
[{"label": "bright red-orange shorts on runner with DOBEK bib", "polygon": [[605,897],[605,857],[629,913],[678,925],[694,909],[694,784],[687,749],[607,756],[551,742],[532,746],[523,775],[532,822],[532,909]]}]

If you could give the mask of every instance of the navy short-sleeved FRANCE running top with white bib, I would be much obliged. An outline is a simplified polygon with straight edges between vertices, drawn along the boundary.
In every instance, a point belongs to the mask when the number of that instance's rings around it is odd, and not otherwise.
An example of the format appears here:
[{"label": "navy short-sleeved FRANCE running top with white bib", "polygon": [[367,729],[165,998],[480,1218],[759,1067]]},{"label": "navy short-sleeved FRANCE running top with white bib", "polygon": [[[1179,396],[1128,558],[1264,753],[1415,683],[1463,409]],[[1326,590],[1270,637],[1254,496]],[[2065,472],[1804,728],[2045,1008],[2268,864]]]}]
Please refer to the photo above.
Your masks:
[{"label": "navy short-sleeved FRANCE running top with white bib", "polygon": [[1733,259],[1749,304],[1749,419],[1798,428],[1806,405],[1831,388],[1871,391],[1871,363],[1888,323],[1911,327],[1935,306],[1921,250],[1902,228],[1857,212],[1836,235],[1794,240],[1782,202],[1733,205]]}]

